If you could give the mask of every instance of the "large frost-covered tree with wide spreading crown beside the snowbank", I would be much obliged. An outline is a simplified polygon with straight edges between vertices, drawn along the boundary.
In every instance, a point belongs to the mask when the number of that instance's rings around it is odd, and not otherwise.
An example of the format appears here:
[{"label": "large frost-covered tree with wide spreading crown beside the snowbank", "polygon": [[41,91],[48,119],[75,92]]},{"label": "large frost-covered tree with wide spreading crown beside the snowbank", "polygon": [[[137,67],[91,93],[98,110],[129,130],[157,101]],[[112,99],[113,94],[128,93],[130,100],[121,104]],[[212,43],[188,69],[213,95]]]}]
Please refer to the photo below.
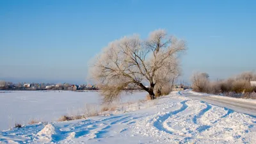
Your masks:
[{"label": "large frost-covered tree with wide spreading crown beside the snowbank", "polygon": [[184,51],[184,40],[168,36],[163,29],[150,33],[147,40],[138,35],[125,36],[111,42],[95,58],[90,74],[100,86],[105,102],[118,98],[127,86],[140,86],[154,99],[155,86],[177,75],[177,59]]}]

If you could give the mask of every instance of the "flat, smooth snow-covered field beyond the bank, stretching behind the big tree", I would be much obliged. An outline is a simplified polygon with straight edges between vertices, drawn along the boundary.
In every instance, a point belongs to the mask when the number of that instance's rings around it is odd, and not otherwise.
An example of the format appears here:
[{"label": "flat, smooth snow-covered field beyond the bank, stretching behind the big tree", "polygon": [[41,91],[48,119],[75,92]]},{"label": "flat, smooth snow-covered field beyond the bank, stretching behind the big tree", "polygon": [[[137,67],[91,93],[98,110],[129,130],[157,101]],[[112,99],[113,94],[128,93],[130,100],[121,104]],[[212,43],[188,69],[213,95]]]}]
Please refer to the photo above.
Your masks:
[{"label": "flat, smooth snow-covered field beyond the bank, stretching behind the big tree", "polygon": [[[145,99],[144,92],[124,93],[122,102]],[[86,104],[99,106],[102,97],[98,92],[21,91],[0,92],[0,131],[10,129],[15,123],[28,124],[31,120],[56,121],[63,115],[81,114]]]}]

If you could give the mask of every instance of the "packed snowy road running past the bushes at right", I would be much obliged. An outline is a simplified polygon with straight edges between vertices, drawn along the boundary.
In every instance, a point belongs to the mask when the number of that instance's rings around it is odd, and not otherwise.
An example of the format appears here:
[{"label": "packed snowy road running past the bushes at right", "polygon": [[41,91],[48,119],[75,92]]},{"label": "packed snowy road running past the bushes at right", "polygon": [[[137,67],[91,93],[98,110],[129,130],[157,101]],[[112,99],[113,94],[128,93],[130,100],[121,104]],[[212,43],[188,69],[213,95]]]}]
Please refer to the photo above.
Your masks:
[{"label": "packed snowy road running past the bushes at right", "polygon": [[253,102],[239,101],[239,99],[223,99],[223,97],[218,96],[196,95],[196,93],[191,93],[190,91],[180,92],[180,94],[191,99],[201,100],[209,104],[232,109],[239,113],[256,116],[256,103]]}]

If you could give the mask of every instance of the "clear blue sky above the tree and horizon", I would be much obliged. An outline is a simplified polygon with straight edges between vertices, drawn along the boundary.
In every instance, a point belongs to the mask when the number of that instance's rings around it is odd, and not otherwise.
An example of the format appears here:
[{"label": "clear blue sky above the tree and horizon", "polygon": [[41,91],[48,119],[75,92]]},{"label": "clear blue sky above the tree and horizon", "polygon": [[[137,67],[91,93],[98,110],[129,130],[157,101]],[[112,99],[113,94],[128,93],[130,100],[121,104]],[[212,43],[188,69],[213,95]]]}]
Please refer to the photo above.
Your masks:
[{"label": "clear blue sky above the tree and horizon", "polygon": [[0,79],[86,83],[109,42],[163,28],[188,42],[181,79],[256,70],[256,1],[0,1]]}]

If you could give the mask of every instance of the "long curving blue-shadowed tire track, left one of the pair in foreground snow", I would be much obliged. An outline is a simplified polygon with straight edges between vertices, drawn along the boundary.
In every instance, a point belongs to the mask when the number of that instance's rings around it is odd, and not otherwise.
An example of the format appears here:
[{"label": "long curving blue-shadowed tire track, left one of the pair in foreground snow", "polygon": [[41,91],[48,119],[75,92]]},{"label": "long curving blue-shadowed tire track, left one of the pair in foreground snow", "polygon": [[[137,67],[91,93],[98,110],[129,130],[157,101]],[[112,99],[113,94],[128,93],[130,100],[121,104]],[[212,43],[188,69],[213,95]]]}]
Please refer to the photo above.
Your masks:
[{"label": "long curving blue-shadowed tire track, left one of the pair in foreground snow", "polygon": [[188,105],[186,104],[186,102],[188,102],[188,100],[184,100],[182,102],[180,102],[180,104],[182,104],[180,109],[177,109],[176,111],[172,111],[170,113],[166,113],[163,116],[159,116],[158,120],[156,122],[154,122],[154,127],[156,127],[156,129],[159,129],[159,131],[164,131],[168,134],[173,134],[173,132],[171,131],[171,129],[166,129],[163,125],[163,122],[166,121],[168,118],[170,118],[170,116],[172,115],[177,115],[178,113],[184,111],[185,109],[188,108]]}]

